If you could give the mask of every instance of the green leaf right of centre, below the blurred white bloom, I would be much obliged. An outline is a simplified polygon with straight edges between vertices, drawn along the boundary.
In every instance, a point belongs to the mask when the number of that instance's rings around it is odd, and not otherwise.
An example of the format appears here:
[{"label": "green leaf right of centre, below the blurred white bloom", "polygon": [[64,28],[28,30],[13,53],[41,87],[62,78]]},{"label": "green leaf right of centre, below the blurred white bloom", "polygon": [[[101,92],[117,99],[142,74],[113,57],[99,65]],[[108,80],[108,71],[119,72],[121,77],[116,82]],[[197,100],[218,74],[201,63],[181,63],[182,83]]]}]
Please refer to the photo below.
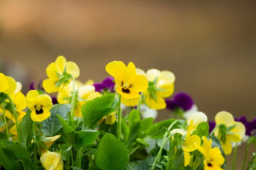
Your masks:
[{"label": "green leaf right of centre, below the blurred white bloom", "polygon": [[[166,133],[166,129],[164,129],[163,127],[168,128],[172,124],[172,122],[174,122],[175,120],[176,119],[168,119],[162,122],[154,123],[149,128],[147,136],[151,136],[152,139],[162,139],[164,134]],[[176,128],[178,128],[176,124],[172,126],[172,129],[176,129]]]}]

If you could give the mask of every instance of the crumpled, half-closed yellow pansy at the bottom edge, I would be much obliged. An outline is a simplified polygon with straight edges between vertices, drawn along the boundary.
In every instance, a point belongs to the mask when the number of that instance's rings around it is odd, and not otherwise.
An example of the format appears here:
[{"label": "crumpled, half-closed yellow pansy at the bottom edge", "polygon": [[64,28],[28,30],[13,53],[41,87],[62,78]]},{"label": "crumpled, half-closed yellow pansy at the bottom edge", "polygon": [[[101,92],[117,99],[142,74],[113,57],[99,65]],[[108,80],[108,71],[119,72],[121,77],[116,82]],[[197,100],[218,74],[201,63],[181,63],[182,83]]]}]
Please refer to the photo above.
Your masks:
[{"label": "crumpled, half-closed yellow pansy at the bottom edge", "polygon": [[46,151],[40,158],[45,170],[63,170],[61,153]]}]

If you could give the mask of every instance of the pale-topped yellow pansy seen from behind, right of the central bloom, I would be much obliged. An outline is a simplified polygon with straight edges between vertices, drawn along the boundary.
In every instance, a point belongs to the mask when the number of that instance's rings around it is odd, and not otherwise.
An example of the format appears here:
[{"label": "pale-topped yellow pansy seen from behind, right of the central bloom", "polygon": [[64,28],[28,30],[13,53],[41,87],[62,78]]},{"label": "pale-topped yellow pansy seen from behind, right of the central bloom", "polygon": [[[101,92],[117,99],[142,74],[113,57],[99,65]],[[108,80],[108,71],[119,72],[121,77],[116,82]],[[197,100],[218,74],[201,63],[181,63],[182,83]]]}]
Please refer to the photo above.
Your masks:
[{"label": "pale-topped yellow pansy seen from behind, right of the central bloom", "polygon": [[138,74],[145,75],[148,79],[149,87],[144,92],[145,103],[149,108],[160,110],[166,108],[164,98],[169,97],[174,92],[175,75],[170,71],[159,71],[150,69],[146,73],[137,68]]}]

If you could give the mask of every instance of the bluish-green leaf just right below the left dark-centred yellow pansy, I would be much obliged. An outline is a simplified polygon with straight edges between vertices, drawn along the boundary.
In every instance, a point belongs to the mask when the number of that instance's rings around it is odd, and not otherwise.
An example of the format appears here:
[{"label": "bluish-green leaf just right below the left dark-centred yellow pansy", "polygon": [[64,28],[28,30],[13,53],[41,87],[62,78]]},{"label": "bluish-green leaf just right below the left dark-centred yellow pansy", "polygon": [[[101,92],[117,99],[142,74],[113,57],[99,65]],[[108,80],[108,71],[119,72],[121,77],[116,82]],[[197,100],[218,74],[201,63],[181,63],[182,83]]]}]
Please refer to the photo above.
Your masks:
[{"label": "bluish-green leaf just right below the left dark-centred yellow pansy", "polygon": [[41,127],[41,132],[46,134],[47,136],[54,136],[56,132],[58,132],[61,127],[61,122],[57,118],[57,114],[61,116],[63,119],[67,119],[67,113],[71,110],[70,105],[54,105],[52,106],[48,119],[44,120],[43,125]]}]

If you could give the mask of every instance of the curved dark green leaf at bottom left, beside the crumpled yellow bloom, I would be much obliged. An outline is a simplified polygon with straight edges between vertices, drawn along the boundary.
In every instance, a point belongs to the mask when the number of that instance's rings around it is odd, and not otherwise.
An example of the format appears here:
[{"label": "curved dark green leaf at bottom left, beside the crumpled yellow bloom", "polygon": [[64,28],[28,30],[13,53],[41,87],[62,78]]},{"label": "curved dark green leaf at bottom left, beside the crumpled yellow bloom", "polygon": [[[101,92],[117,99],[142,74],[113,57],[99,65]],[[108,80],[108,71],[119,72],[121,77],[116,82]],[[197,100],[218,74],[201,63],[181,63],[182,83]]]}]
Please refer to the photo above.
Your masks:
[{"label": "curved dark green leaf at bottom left, beside the crumpled yellow bloom", "polygon": [[25,149],[25,147],[22,147],[17,144],[8,144],[6,145],[6,147],[12,150],[12,152],[17,158],[24,159],[26,163],[29,165],[29,168],[33,169],[34,166],[33,166],[30,153]]}]

